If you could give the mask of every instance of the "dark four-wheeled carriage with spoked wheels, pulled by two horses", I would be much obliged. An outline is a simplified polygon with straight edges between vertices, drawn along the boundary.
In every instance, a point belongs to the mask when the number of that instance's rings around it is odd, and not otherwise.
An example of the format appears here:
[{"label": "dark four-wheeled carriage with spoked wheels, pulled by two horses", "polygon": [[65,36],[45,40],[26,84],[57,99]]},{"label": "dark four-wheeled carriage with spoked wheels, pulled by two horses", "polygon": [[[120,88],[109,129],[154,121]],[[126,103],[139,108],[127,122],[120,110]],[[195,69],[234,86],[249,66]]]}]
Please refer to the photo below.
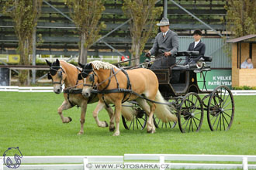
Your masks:
[{"label": "dark four-wheeled carriage with spoked wheels, pulled by two horses", "polygon": [[[199,56],[199,53],[178,52],[176,57],[178,59],[182,56],[193,58]],[[170,68],[153,70],[157,75],[162,96],[176,108],[178,126],[183,133],[199,131],[204,112],[207,114],[211,131],[227,131],[234,120],[234,98],[230,89],[226,86],[216,87],[214,90],[206,88],[206,73],[211,70],[207,63],[211,61],[211,56],[204,56],[193,65],[175,64]],[[198,76],[202,77],[201,82]],[[122,118],[126,129],[143,129],[146,125],[147,114],[137,107],[137,115],[134,115],[132,121],[126,121],[125,117]],[[157,128],[175,128],[176,123],[164,123],[154,117],[154,124]]]}]

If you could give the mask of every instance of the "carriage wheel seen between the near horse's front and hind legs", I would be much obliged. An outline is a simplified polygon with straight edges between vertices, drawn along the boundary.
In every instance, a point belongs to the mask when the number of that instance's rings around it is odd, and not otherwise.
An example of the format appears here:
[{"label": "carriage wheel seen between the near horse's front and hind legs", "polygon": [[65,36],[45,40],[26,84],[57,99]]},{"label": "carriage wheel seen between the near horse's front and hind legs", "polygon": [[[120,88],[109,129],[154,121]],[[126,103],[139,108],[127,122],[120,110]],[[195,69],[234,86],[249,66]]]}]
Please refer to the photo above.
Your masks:
[{"label": "carriage wheel seen between the near horse's front and hind legs", "polygon": [[143,130],[147,124],[147,114],[144,110],[141,110],[140,107],[136,109],[137,115],[133,116],[131,121],[127,121],[125,117],[122,116],[123,126],[127,130],[140,129]]}]

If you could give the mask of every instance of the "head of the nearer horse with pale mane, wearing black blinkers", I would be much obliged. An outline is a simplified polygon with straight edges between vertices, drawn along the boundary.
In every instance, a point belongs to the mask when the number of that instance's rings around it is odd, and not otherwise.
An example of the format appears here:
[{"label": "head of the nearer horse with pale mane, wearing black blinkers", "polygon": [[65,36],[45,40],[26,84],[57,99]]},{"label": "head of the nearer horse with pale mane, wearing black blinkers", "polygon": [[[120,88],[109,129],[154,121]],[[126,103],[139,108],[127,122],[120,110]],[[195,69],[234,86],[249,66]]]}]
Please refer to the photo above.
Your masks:
[{"label": "head of the nearer horse with pale mane, wearing black blinkers", "polygon": [[92,89],[95,87],[95,84],[98,81],[98,75],[93,70],[92,63],[87,63],[85,65],[81,63],[78,64],[82,68],[81,73],[78,74],[78,80],[83,80],[84,82],[84,87],[81,94],[84,97],[90,97],[92,94]]}]

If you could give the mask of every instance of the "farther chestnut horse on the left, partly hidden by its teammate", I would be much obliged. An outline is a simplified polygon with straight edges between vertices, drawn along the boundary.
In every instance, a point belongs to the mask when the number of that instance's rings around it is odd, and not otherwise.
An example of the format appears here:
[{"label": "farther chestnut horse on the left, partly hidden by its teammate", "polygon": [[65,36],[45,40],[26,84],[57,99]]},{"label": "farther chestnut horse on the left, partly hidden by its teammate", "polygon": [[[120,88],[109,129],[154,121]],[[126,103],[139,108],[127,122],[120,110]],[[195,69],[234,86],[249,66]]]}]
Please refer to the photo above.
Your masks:
[{"label": "farther chestnut horse on the left, partly hidden by its teammate", "polygon": [[[92,95],[91,97],[83,97],[81,95],[81,89],[83,87],[82,81],[78,80],[78,73],[80,70],[66,61],[59,61],[56,59],[54,63],[50,63],[47,59],[47,64],[50,66],[50,72],[48,73],[48,79],[51,79],[54,83],[54,93],[61,93],[62,85],[64,84],[64,101],[61,106],[57,109],[58,114],[61,116],[63,123],[69,123],[72,121],[71,117],[64,117],[62,114],[63,110],[70,109],[71,107],[78,106],[81,107],[81,129],[78,134],[84,133],[84,124],[85,124],[85,113],[87,104],[95,103],[99,100],[97,95]],[[68,90],[70,90],[68,92]],[[80,90],[80,91],[79,91]],[[66,91],[66,92],[65,92]],[[111,107],[105,107],[109,117],[112,117],[113,110]],[[122,114],[127,119],[133,117],[135,110],[132,110],[131,107],[125,107],[122,110]],[[99,127],[108,127],[106,121],[99,121],[98,114],[94,114],[96,123]],[[109,127],[109,131],[113,131],[115,127]]]}]

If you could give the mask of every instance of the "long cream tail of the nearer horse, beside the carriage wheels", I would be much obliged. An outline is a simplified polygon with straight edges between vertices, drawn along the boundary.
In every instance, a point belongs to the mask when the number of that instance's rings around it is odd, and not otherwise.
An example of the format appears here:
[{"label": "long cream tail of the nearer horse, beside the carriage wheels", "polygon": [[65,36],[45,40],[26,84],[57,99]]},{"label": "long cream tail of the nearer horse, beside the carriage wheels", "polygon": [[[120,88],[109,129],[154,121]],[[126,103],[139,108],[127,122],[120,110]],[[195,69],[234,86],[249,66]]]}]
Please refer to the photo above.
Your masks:
[{"label": "long cream tail of the nearer horse, beside the carriage wheels", "polygon": [[[167,103],[166,100],[164,100],[164,97],[162,97],[159,90],[157,90],[157,96],[155,98],[155,101],[161,102],[161,103]],[[154,114],[158,118],[161,119],[163,122],[169,122],[169,121],[177,121],[177,117],[175,116],[175,107],[169,106],[167,104],[156,104],[156,110],[154,111]]]}]

